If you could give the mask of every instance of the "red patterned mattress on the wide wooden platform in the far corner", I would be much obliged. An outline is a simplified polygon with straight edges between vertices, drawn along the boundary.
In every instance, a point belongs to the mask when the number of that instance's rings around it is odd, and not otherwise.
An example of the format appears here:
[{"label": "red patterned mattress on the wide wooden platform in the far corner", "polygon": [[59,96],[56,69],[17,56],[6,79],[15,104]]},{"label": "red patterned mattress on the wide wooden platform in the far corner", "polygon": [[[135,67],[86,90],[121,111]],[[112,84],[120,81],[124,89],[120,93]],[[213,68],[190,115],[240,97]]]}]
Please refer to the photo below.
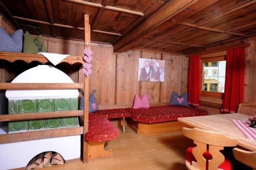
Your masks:
[{"label": "red patterned mattress on the wide wooden platform in the far corner", "polygon": [[141,123],[160,123],[177,120],[179,117],[208,115],[207,111],[189,106],[154,106],[150,108],[126,108],[131,113],[131,118]]}]

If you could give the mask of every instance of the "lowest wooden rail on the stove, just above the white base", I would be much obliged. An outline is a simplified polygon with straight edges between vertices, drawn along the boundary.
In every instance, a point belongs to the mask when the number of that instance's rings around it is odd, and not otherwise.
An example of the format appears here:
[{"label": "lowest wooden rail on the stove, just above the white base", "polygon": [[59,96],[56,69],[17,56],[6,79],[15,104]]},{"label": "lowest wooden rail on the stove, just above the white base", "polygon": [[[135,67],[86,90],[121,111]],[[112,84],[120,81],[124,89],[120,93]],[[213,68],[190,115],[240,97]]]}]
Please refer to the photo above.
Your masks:
[{"label": "lowest wooden rail on the stove, just above the white base", "polygon": [[0,135],[0,144],[83,134],[83,127],[48,129]]}]

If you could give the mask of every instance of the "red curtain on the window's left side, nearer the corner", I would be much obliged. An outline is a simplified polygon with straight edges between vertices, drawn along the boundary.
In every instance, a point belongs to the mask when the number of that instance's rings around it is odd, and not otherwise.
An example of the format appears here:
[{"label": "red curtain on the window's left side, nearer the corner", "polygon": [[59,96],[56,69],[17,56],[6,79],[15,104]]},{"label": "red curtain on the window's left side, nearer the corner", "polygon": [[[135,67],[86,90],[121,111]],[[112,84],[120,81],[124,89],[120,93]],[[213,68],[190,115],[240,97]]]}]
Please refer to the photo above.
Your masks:
[{"label": "red curtain on the window's left side, nearer the corner", "polygon": [[188,66],[188,104],[199,106],[200,55],[191,56]]}]

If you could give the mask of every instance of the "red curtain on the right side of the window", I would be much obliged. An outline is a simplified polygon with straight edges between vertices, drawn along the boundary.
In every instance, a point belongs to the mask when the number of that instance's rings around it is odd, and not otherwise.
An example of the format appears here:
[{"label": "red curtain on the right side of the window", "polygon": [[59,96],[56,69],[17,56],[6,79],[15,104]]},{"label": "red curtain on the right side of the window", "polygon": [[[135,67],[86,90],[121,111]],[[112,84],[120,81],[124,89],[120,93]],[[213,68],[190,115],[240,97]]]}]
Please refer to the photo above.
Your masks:
[{"label": "red curtain on the right side of the window", "polygon": [[239,103],[243,103],[244,65],[244,47],[227,51],[225,90],[221,108],[222,113],[236,113]]}]

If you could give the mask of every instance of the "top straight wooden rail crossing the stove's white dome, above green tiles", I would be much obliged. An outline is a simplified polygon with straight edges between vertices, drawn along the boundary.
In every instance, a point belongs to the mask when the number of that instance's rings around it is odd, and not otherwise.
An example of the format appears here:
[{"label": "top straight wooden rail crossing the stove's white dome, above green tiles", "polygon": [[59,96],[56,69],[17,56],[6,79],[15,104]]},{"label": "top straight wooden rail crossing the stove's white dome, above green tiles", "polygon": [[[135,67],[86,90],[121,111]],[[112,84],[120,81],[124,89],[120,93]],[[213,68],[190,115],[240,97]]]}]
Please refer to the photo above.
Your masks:
[{"label": "top straight wooden rail crossing the stove's white dome, above green tiles", "polygon": [[84,88],[83,83],[0,83],[0,89],[27,90],[27,89],[77,89]]}]

